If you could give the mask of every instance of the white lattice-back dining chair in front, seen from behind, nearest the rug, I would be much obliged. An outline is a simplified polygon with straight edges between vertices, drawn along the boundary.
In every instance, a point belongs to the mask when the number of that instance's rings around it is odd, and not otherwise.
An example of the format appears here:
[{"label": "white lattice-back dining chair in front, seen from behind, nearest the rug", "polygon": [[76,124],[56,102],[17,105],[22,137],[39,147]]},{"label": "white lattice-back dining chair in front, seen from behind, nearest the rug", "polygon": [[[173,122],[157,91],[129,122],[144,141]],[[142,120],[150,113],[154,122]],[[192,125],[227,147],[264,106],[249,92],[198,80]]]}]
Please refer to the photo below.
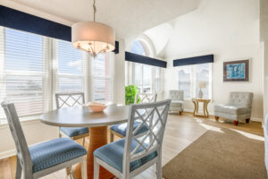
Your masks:
[{"label": "white lattice-back dining chair in front, seen from behind, nearest the rug", "polygon": [[[130,179],[148,167],[156,166],[156,176],[162,179],[162,143],[170,99],[142,105],[131,105],[125,139],[114,141],[94,151],[94,179],[98,179],[99,166],[105,167],[118,178]],[[140,110],[148,113],[142,115]],[[135,121],[142,123],[134,129]],[[137,135],[147,125],[147,132]]]}]

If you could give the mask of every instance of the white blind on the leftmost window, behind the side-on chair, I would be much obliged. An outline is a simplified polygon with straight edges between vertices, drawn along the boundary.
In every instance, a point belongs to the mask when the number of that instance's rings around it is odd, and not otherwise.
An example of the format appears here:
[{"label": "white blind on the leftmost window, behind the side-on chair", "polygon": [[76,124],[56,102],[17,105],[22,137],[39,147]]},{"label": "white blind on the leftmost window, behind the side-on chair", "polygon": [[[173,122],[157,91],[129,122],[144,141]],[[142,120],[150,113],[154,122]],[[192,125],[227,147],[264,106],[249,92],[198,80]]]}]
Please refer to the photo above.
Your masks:
[{"label": "white blind on the leftmost window, behind the side-on chair", "polygon": [[[47,78],[46,38],[0,27],[0,101],[13,102],[18,115],[44,112]],[[5,118],[3,109],[0,118]]]}]

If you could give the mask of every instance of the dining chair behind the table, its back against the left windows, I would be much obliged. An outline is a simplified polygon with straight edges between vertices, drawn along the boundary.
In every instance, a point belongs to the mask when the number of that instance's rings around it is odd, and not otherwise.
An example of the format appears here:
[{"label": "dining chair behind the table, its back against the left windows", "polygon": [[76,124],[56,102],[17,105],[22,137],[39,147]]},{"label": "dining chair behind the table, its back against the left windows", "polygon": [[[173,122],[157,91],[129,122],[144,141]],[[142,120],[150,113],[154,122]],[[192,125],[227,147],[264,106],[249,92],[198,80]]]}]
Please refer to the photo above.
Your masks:
[{"label": "dining chair behind the table, its back against the left windows", "polygon": [[[85,103],[85,95],[83,92],[55,93],[55,101],[57,109],[82,106]],[[59,137],[62,136],[67,136],[71,140],[83,139],[83,146],[85,146],[85,138],[89,136],[88,127],[60,127]]]}]

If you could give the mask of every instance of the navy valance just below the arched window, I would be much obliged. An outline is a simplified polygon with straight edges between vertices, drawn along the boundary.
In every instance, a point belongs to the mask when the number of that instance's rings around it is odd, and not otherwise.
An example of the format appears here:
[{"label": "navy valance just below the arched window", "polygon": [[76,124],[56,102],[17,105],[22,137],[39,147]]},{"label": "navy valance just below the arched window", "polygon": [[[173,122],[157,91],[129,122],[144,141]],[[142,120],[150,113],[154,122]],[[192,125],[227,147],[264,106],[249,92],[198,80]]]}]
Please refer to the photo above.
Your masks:
[{"label": "navy valance just below the arched window", "polygon": [[149,64],[153,66],[166,68],[166,62],[162,60],[157,60],[155,58],[147,57],[144,55],[133,54],[130,52],[125,52],[125,60],[129,62],[139,63],[139,64]]}]

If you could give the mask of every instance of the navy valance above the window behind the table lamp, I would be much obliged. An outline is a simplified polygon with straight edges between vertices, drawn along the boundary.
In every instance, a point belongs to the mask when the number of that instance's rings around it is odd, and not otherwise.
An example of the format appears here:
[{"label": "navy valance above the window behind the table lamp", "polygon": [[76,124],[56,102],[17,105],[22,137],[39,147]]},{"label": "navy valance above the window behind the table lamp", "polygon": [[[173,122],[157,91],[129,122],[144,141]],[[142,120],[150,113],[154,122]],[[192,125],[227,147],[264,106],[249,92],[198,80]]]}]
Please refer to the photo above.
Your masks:
[{"label": "navy valance above the window behind the table lamp", "polygon": [[183,66],[189,64],[206,64],[206,63],[214,63],[214,55],[202,55],[202,56],[173,60],[173,66]]}]

